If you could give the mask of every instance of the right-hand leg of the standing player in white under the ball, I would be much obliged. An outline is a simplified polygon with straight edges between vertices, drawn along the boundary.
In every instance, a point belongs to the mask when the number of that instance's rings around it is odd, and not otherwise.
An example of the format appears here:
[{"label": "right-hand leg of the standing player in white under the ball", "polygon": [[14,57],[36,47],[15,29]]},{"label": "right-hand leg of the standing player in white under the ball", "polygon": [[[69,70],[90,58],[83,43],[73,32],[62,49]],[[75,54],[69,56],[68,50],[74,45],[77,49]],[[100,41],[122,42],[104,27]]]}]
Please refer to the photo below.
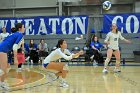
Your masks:
[{"label": "right-hand leg of the standing player in white under the ball", "polygon": [[116,58],[116,65],[115,65],[115,69],[114,72],[120,72],[120,50],[116,50],[114,52],[115,58]]}]

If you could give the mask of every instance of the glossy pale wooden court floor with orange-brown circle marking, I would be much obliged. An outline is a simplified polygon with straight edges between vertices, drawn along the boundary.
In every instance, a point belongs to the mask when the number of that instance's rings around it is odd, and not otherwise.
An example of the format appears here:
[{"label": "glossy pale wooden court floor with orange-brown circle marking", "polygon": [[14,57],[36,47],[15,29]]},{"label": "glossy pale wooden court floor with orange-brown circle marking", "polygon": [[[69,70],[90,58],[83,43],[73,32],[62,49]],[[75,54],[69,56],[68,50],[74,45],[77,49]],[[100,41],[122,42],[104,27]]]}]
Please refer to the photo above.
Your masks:
[{"label": "glossy pale wooden court floor with orange-brown circle marking", "polygon": [[6,82],[10,90],[0,93],[140,93],[140,66],[122,66],[114,74],[102,74],[102,66],[69,66],[69,88],[59,87],[58,80],[47,83],[46,71],[41,66],[24,67],[22,72],[10,70]]}]

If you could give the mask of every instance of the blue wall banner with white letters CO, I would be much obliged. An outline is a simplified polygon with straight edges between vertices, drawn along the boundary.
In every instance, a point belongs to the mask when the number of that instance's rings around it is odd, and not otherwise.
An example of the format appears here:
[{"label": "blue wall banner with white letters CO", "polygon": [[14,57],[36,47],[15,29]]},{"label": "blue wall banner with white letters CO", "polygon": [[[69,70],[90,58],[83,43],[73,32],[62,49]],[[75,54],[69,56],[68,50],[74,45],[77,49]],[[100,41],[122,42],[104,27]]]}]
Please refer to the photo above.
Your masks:
[{"label": "blue wall banner with white letters CO", "polygon": [[116,23],[122,33],[140,33],[140,14],[105,14],[103,33],[110,31],[112,23]]}]

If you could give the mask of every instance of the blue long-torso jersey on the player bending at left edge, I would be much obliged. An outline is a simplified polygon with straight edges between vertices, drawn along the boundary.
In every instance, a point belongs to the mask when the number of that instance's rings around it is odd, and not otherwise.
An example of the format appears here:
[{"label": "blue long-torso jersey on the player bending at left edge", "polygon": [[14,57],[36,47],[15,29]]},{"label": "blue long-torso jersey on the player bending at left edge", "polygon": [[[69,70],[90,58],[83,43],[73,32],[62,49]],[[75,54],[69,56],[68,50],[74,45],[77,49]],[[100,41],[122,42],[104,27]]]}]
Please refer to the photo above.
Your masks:
[{"label": "blue long-torso jersey on the player bending at left edge", "polygon": [[8,53],[8,51],[13,49],[14,44],[18,44],[20,46],[22,39],[23,34],[21,32],[10,34],[0,43],[0,52]]}]

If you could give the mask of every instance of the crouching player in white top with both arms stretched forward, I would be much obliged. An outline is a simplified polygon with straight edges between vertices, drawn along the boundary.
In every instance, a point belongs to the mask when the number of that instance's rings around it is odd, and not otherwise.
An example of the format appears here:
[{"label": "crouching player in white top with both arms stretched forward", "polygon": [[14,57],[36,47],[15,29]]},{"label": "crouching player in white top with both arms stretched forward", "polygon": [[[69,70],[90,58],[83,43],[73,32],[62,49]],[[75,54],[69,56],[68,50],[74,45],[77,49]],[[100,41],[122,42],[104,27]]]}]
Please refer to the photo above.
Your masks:
[{"label": "crouching player in white top with both arms stretched forward", "polygon": [[[67,54],[67,55],[66,55]],[[65,81],[66,75],[68,73],[68,69],[65,63],[62,62],[55,62],[61,58],[66,60],[71,60],[72,58],[77,58],[83,54],[83,51],[79,51],[76,54],[72,54],[67,49],[67,42],[63,39],[58,41],[57,49],[52,51],[44,60],[44,67],[48,70],[55,70],[56,77],[59,77],[60,86],[61,87],[68,87],[69,85]]]}]

